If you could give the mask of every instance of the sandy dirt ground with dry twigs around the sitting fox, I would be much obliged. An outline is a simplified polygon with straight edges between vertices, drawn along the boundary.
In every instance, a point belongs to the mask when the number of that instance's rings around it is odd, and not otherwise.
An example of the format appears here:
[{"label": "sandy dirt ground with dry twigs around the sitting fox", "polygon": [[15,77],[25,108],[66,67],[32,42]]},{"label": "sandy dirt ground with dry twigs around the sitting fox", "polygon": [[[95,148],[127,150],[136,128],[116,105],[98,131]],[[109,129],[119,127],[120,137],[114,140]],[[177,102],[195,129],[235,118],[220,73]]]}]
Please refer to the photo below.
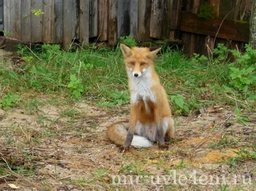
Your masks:
[{"label": "sandy dirt ground with dry twigs around the sitting fox", "polygon": [[107,140],[106,127],[129,120],[129,105],[106,109],[62,97],[37,98],[41,103],[32,111],[22,105],[0,109],[1,190],[256,189],[250,157],[256,114],[247,114],[247,126],[228,107],[177,116],[168,150],[154,144],[122,152]]}]

